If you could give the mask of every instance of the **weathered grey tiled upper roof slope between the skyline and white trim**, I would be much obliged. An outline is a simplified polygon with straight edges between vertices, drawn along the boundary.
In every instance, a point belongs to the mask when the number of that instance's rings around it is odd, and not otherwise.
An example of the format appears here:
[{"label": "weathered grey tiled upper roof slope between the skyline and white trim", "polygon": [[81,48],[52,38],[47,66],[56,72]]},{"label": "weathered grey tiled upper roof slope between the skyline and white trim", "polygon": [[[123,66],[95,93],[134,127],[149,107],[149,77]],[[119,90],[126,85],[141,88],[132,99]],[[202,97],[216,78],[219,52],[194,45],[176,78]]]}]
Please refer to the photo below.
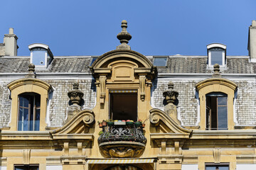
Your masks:
[{"label": "weathered grey tiled upper roof slope between the skyline and white trim", "polygon": [[[0,73],[27,72],[29,57],[0,57]],[[149,57],[152,61],[152,57]],[[47,69],[36,72],[79,72],[90,73],[88,66],[92,57],[55,57]],[[169,57],[167,67],[158,67],[159,73],[212,73],[207,69],[207,57],[187,56]],[[255,74],[256,63],[249,62],[249,57],[228,57],[224,74]]]}]

